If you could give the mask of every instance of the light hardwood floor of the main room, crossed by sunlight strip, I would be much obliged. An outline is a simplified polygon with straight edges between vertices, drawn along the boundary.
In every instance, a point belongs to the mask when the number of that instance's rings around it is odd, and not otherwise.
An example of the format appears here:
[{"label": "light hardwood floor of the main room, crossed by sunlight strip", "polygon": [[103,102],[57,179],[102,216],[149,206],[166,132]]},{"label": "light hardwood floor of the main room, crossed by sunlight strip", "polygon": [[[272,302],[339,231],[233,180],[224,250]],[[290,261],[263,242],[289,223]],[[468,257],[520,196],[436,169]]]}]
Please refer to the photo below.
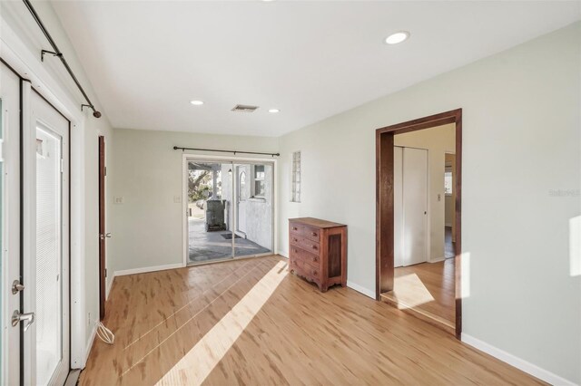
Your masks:
[{"label": "light hardwood floor of the main room, crossed by sunlight strip", "polygon": [[268,256],[115,278],[82,385],[535,384],[350,288],[321,294]]}]

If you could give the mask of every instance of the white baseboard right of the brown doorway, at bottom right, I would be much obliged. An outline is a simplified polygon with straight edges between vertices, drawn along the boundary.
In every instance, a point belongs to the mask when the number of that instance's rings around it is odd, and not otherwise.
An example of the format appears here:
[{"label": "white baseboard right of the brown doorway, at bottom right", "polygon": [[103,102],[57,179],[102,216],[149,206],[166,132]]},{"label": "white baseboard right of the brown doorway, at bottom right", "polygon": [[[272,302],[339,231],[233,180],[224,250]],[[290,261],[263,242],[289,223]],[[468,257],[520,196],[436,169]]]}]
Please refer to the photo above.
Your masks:
[{"label": "white baseboard right of the brown doorway, at bottom right", "polygon": [[507,362],[511,366],[516,367],[518,370],[522,370],[523,372],[527,372],[528,374],[537,377],[541,381],[546,381],[553,385],[571,385],[574,386],[575,383],[572,381],[567,381],[563,377],[559,377],[558,375],[547,372],[545,369],[541,369],[536,364],[531,362],[527,362],[524,359],[520,359],[517,356],[505,352],[504,350],[500,350],[499,348],[488,344],[486,342],[482,342],[479,339],[470,336],[466,333],[462,333],[462,342],[471,345],[474,348],[477,348],[481,352],[486,352],[489,355],[499,359],[502,362]]}]

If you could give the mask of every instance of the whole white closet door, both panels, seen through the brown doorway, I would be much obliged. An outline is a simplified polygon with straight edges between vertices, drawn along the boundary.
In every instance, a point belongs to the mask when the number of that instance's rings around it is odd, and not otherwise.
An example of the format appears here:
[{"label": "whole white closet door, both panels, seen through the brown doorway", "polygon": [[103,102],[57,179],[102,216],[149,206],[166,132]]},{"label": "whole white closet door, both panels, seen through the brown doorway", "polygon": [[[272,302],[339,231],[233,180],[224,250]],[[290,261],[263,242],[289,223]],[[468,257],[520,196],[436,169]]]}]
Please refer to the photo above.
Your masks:
[{"label": "whole white closet door, both panels, seen through the brown doorway", "polygon": [[394,265],[428,261],[428,150],[394,148]]}]

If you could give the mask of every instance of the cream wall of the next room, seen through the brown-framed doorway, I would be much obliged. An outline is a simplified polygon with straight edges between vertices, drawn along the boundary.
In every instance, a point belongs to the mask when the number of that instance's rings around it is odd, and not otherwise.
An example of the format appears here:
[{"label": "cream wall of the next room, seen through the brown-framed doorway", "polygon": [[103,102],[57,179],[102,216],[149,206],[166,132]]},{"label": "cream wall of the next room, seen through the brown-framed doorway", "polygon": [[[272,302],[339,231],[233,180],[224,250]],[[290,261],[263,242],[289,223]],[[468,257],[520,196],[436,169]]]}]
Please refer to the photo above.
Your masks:
[{"label": "cream wall of the next room, seen through the brown-framed doorway", "polygon": [[[428,150],[428,261],[444,256],[444,166],[446,152],[454,152],[456,125],[451,123],[438,128],[412,131],[394,136],[396,146]],[[438,200],[439,195],[439,200]]]}]

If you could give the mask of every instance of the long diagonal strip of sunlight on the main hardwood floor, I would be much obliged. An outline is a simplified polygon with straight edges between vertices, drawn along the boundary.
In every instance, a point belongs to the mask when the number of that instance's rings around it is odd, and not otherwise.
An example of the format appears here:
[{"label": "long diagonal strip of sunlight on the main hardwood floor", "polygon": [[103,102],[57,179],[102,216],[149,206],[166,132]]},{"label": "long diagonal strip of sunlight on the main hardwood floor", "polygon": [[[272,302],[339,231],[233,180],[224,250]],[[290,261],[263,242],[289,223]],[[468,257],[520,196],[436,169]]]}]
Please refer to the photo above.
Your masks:
[{"label": "long diagonal strip of sunlight on the main hardwood floor", "polygon": [[281,261],[272,267],[157,384],[201,384],[281,284],[287,275],[285,266]]}]

